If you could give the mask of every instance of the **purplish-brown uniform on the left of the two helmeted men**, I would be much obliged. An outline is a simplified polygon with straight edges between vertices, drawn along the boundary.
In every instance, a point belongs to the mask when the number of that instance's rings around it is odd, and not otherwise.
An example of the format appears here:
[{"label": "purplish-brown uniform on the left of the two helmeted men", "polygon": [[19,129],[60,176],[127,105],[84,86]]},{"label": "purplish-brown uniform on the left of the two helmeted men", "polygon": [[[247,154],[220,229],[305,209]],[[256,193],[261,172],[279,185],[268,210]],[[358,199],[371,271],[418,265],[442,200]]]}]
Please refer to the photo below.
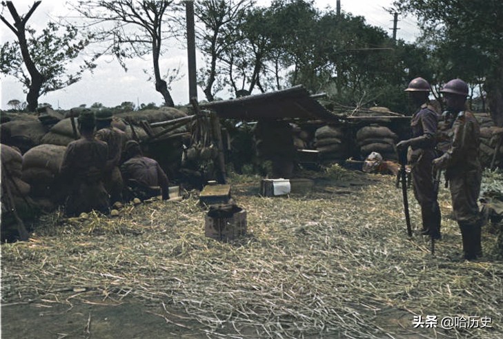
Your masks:
[{"label": "purplish-brown uniform on the left of the two helmeted men", "polygon": [[438,116],[434,108],[424,103],[411,119],[412,138],[408,162],[412,167],[413,192],[421,206],[422,232],[440,238],[440,208],[433,188],[431,162],[438,156],[435,150]]}]

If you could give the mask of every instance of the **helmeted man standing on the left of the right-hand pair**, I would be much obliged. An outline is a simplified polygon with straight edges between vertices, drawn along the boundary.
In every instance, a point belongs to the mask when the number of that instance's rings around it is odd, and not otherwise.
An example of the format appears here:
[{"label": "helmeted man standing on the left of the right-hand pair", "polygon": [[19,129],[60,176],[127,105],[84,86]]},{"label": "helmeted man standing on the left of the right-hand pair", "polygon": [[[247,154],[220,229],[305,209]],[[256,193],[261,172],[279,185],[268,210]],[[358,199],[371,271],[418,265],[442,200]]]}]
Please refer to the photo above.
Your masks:
[{"label": "helmeted man standing on the left of the right-hand pair", "polygon": [[440,239],[440,208],[433,188],[431,162],[438,156],[435,145],[437,113],[429,104],[430,84],[415,78],[405,90],[417,110],[411,119],[411,138],[397,143],[398,152],[408,149],[407,160],[412,166],[413,191],[421,206],[421,234]]}]

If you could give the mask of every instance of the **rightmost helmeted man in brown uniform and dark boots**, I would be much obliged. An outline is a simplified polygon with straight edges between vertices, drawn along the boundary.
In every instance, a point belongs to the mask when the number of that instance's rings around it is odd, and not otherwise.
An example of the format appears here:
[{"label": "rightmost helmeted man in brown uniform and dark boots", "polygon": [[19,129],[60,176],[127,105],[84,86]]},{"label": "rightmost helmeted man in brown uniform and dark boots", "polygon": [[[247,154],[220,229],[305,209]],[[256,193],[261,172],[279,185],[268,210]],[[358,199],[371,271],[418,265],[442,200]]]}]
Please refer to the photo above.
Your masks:
[{"label": "rightmost helmeted man in brown uniform and dark boots", "polygon": [[477,206],[482,181],[480,127],[475,116],[465,109],[468,85],[464,81],[448,81],[440,92],[444,94],[447,107],[442,115],[446,119],[449,116],[454,118],[448,149],[433,161],[433,166],[446,170],[454,217],[461,230],[464,258],[473,260],[482,256],[482,218]]}]

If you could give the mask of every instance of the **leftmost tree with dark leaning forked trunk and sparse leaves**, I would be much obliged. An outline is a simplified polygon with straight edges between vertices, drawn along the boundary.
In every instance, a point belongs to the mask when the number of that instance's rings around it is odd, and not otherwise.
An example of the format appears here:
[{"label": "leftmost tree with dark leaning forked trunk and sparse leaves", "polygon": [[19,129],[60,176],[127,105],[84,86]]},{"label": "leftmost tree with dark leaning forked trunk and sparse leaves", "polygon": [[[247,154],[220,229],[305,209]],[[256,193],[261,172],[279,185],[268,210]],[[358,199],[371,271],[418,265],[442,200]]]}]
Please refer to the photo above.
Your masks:
[{"label": "leftmost tree with dark leaning forked trunk and sparse leaves", "polygon": [[[48,22],[41,34],[28,27],[28,21],[41,1],[35,1],[27,14],[19,15],[12,1],[2,1],[7,8],[12,23],[0,14],[3,23],[16,35],[17,41],[6,42],[0,51],[0,72],[17,78],[28,92],[28,110],[34,112],[39,97],[48,92],[66,88],[81,79],[85,70],[96,67],[94,61],[99,54],[86,59],[79,70],[70,74],[68,63],[79,56],[89,44],[89,37],[79,39],[74,25],[59,25]],[[60,32],[63,30],[63,32]]]}]

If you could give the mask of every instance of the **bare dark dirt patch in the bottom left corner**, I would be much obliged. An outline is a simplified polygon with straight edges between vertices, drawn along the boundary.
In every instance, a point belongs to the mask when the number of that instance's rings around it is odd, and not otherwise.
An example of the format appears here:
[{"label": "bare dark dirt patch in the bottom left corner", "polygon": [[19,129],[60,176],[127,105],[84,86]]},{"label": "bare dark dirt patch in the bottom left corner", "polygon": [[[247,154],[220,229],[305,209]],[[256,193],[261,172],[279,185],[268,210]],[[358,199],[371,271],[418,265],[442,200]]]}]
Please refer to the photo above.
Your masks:
[{"label": "bare dark dirt patch in the bottom left corner", "polygon": [[162,306],[148,305],[144,300],[103,301],[88,294],[76,296],[68,304],[33,300],[2,305],[1,337],[206,338],[201,325],[180,309],[170,309],[172,316],[168,316]]}]

